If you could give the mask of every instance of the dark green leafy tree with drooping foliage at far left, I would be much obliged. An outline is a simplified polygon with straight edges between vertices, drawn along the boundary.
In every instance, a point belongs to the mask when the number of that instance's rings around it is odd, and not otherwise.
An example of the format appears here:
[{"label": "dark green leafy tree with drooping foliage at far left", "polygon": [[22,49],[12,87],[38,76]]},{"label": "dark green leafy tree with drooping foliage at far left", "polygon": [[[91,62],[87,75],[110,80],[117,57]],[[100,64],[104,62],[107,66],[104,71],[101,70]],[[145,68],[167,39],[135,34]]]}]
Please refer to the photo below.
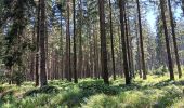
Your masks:
[{"label": "dark green leafy tree with drooping foliage at far left", "polygon": [[[25,41],[25,29],[28,25],[26,11],[30,6],[28,1],[3,1],[3,15],[0,17],[0,26],[5,27],[3,64],[6,67],[6,77],[9,84],[17,82],[21,79],[13,79],[13,76],[24,75],[25,64],[23,64],[23,55],[28,48]],[[27,4],[27,5],[26,5]],[[29,11],[28,11],[29,12]],[[22,77],[23,79],[23,77]],[[13,81],[16,80],[16,81]],[[19,84],[19,83],[16,83]]]}]

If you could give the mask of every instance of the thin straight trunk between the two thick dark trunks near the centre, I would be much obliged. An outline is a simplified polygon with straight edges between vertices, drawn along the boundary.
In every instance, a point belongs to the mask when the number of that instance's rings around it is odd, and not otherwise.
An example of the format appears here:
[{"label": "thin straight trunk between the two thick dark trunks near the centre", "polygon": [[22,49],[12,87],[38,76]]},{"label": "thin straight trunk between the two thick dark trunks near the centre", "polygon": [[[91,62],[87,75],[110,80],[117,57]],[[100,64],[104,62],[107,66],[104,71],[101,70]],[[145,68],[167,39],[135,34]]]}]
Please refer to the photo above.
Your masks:
[{"label": "thin straight trunk between the two thick dark trunks near the centre", "polygon": [[111,1],[109,0],[109,17],[110,17],[110,42],[111,42],[111,64],[113,64],[113,76],[116,80],[115,73],[115,50],[114,50],[114,36],[113,36],[113,17],[111,17]]}]

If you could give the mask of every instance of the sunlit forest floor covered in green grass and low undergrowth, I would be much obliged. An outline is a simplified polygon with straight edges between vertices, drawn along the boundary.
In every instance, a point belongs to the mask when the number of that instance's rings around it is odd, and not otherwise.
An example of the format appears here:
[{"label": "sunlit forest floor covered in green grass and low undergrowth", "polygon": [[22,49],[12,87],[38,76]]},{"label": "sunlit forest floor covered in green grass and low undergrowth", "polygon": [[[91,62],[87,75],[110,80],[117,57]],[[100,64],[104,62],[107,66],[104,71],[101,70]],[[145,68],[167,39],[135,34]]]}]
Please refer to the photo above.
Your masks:
[{"label": "sunlit forest floor covered in green grass and low undergrowth", "polygon": [[0,108],[184,108],[184,78],[169,76],[135,78],[131,85],[118,78],[104,85],[103,80],[82,79],[78,84],[49,81],[49,86],[0,85]]}]

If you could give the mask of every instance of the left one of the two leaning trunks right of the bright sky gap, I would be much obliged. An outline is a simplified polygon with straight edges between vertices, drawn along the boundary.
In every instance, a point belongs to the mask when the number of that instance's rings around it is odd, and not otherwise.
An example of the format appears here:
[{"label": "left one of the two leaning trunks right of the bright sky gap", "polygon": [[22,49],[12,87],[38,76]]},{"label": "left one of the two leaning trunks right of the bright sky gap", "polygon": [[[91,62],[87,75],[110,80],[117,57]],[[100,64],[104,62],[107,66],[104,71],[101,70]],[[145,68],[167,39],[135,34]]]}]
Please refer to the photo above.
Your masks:
[{"label": "left one of the two leaning trunks right of the bright sky gap", "polygon": [[168,54],[168,65],[169,65],[169,71],[170,71],[170,80],[174,80],[173,64],[172,64],[171,51],[170,51],[170,44],[169,44],[168,27],[167,27],[166,15],[165,15],[165,4],[166,4],[166,1],[160,0],[161,18],[162,18],[163,30],[165,30],[166,48],[167,48],[167,54]]}]

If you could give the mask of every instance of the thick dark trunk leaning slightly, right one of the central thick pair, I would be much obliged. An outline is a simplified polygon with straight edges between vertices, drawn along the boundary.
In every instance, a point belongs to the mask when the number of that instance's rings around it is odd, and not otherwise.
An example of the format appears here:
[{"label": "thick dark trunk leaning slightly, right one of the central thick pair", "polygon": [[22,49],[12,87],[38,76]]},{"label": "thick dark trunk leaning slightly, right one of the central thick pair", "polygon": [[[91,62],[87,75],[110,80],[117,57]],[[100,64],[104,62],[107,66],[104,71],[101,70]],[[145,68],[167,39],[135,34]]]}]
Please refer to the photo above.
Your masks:
[{"label": "thick dark trunk leaning slightly, right one of the central thick pair", "polygon": [[120,23],[121,23],[121,44],[122,44],[122,53],[123,53],[123,68],[124,68],[124,77],[126,84],[131,83],[131,79],[129,76],[129,67],[128,67],[128,57],[127,57],[127,44],[126,44],[126,33],[124,33],[124,0],[119,0],[120,8]]}]

